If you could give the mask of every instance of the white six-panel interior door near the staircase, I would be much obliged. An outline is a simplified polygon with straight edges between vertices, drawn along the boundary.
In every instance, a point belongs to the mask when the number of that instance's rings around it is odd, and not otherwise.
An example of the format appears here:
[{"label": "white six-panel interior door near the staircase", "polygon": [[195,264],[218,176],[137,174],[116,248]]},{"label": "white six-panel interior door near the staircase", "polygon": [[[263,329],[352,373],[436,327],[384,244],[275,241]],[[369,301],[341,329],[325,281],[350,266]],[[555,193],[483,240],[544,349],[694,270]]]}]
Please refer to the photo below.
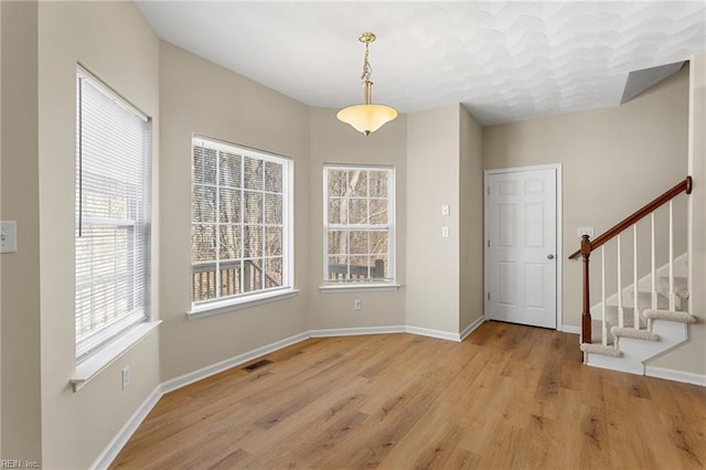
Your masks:
[{"label": "white six-panel interior door near the staircase", "polygon": [[485,318],[556,328],[557,170],[488,172]]}]

